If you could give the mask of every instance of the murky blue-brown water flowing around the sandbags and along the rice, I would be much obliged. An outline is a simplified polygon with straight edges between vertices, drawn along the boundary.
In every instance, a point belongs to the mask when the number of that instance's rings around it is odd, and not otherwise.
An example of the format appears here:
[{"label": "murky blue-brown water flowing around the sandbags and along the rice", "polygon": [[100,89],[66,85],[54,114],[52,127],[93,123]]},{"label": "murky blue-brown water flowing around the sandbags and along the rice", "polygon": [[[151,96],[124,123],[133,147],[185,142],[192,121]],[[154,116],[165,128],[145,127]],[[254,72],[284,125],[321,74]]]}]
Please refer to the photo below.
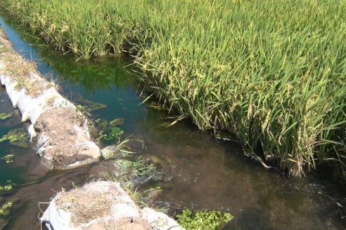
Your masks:
[{"label": "murky blue-brown water flowing around the sandbags and along the rice", "polygon": [[[75,57],[59,55],[40,45],[25,30],[6,18],[1,25],[15,50],[37,62],[39,71],[57,81],[61,92],[70,100],[91,106],[107,105],[91,112],[95,119],[124,119],[124,137],[134,134],[146,148],[134,146],[139,156],[148,156],[160,164],[160,181],[150,178],[136,181],[141,189],[148,183],[164,188],[153,196],[153,203],[164,204],[171,214],[184,208],[224,210],[234,219],[224,229],[346,229],[346,198],[332,182],[309,176],[294,180],[278,170],[266,170],[256,161],[243,156],[236,142],[214,140],[210,133],[198,130],[189,121],[171,128],[165,111],[140,104],[136,81],[129,74],[127,57],[106,57],[75,62]],[[0,135],[13,128],[25,127],[20,115],[11,107],[4,88],[0,89],[0,113],[13,112],[13,117],[0,121]],[[110,142],[101,143],[112,144]],[[0,154],[15,154],[14,162],[0,161],[0,185],[7,180],[16,184],[13,191],[3,192],[4,201],[15,206],[6,219],[5,229],[39,229],[37,216],[44,202],[63,188],[70,189],[93,178],[95,168],[110,161],[94,163],[70,171],[50,171],[41,167],[31,149],[20,149],[0,143]],[[146,182],[146,183],[145,183]],[[42,202],[38,205],[39,202]]]}]

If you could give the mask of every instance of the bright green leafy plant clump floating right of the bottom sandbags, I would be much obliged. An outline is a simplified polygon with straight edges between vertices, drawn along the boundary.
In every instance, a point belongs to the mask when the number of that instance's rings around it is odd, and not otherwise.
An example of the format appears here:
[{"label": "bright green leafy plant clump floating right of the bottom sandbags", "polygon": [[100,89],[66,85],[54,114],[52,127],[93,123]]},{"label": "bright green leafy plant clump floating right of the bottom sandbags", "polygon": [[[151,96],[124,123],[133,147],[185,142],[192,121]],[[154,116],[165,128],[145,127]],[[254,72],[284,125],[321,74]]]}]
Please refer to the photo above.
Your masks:
[{"label": "bright green leafy plant clump floating right of the bottom sandbags", "polygon": [[227,212],[186,209],[181,215],[177,215],[177,218],[179,224],[186,230],[214,230],[231,221],[233,216]]}]

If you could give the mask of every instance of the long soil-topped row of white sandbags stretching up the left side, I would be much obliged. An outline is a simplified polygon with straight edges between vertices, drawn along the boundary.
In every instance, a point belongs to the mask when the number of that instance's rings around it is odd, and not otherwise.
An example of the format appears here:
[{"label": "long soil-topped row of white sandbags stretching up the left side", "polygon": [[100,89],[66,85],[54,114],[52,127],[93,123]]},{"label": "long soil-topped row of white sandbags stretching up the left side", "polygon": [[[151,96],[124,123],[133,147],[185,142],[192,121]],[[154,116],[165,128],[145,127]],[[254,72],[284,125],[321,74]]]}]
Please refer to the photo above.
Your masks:
[{"label": "long soil-topped row of white sandbags stretching up the left side", "polygon": [[13,107],[29,121],[28,131],[37,154],[48,168],[73,168],[100,158],[91,141],[87,119],[74,104],[44,79],[32,62],[13,51],[0,29],[0,81]]}]

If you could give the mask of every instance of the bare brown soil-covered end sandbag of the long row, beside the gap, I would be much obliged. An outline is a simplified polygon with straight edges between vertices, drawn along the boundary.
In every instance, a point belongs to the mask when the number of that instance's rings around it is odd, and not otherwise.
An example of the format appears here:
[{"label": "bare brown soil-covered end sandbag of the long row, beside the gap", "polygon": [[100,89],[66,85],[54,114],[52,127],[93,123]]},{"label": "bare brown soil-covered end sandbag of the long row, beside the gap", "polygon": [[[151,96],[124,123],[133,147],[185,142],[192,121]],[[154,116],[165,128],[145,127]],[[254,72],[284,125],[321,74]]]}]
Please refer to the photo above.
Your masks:
[{"label": "bare brown soil-covered end sandbag of the long row, beside the gap", "polygon": [[84,116],[72,108],[45,111],[34,124],[33,142],[38,154],[54,168],[70,168],[100,158],[100,149],[91,142]]}]

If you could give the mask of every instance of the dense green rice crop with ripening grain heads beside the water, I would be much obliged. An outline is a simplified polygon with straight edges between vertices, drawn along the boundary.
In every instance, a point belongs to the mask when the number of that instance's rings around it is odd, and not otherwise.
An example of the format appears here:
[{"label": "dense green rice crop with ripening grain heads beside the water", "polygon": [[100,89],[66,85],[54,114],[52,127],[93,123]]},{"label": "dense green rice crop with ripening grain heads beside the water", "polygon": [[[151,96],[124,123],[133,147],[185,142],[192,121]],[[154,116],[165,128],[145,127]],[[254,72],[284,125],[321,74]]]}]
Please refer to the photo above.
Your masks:
[{"label": "dense green rice crop with ripening grain heads beside the water", "polygon": [[61,52],[129,53],[201,129],[226,130],[301,176],[345,176],[346,0],[2,0]]}]

